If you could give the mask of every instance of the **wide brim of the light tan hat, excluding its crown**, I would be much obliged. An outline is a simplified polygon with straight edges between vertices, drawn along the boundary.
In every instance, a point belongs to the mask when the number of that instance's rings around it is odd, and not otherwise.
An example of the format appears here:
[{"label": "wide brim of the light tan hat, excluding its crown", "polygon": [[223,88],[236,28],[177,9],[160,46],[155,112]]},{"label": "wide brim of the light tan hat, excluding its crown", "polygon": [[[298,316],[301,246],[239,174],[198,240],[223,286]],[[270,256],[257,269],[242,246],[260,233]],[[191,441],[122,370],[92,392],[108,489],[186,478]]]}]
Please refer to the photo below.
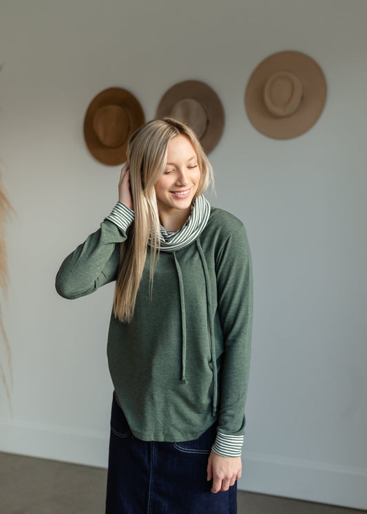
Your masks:
[{"label": "wide brim of the light tan hat, excluding its crown", "polygon": [[[291,72],[303,86],[303,98],[290,116],[275,116],[263,99],[267,79],[276,72]],[[307,132],[315,125],[326,102],[326,80],[322,69],[302,52],[277,52],[262,61],[247,83],[244,103],[247,116],[256,130],[274,139],[290,139]]]}]

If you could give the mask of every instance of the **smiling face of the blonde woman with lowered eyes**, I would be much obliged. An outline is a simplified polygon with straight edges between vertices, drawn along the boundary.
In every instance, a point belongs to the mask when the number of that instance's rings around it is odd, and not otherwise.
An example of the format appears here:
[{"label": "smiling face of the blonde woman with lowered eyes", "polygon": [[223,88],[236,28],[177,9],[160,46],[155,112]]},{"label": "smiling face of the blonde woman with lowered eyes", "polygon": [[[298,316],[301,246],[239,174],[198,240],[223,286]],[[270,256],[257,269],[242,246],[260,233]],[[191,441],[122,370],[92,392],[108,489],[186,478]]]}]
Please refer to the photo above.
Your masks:
[{"label": "smiling face of the blonde woman with lowered eyes", "polygon": [[154,186],[160,215],[189,214],[193,197],[200,183],[198,156],[186,136],[169,141],[165,172]]}]

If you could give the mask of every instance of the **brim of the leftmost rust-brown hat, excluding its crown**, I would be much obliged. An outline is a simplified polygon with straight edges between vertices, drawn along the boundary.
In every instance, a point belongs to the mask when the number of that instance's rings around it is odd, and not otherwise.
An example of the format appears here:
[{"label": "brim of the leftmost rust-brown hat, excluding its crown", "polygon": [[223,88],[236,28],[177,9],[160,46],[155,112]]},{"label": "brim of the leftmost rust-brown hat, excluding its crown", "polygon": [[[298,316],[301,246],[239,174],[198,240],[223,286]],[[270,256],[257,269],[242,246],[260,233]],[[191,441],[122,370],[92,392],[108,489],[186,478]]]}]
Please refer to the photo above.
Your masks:
[{"label": "brim of the leftmost rust-brown hat, excluding its crown", "polygon": [[[107,147],[99,141],[93,128],[94,115],[100,107],[118,105],[126,112],[129,119],[127,137],[118,147]],[[126,161],[126,149],[129,137],[145,122],[143,108],[134,94],[123,88],[108,88],[94,96],[87,108],[84,118],[84,138],[88,150],[97,161],[110,166]]]}]

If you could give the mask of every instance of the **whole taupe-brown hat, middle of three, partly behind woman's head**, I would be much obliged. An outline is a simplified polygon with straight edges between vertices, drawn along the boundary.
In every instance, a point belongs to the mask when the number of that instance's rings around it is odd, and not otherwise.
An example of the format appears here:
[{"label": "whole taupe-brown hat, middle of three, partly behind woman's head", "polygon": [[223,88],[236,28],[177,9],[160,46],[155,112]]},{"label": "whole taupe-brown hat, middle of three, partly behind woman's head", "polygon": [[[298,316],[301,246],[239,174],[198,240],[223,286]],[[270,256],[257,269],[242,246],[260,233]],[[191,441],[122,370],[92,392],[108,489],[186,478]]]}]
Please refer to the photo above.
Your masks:
[{"label": "whole taupe-brown hat, middle of three, partly behind woman's head", "polygon": [[156,116],[169,116],[189,125],[207,154],[218,145],[224,130],[224,110],[218,94],[200,81],[173,85],[160,99]]}]

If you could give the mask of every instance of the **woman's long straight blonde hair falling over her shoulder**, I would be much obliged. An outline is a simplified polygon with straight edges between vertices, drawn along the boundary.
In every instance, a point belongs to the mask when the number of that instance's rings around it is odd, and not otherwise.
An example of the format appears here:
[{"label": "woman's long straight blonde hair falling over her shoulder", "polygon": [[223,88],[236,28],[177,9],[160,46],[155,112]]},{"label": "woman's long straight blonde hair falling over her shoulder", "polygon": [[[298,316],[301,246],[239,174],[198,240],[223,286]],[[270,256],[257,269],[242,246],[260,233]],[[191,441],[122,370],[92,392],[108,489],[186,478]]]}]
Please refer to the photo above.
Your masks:
[{"label": "woman's long straight blonde hair falling over her shoulder", "polygon": [[[127,231],[127,240],[120,245],[120,265],[114,294],[114,315],[122,322],[134,316],[136,295],[151,246],[150,285],[160,249],[160,220],[154,185],[165,171],[169,141],[175,136],[189,138],[198,156],[199,196],[213,181],[213,170],[196,134],[187,125],[172,118],[145,123],[132,134],[127,146],[130,187],[134,201],[135,220]],[[150,238],[150,241],[149,241]]]}]

